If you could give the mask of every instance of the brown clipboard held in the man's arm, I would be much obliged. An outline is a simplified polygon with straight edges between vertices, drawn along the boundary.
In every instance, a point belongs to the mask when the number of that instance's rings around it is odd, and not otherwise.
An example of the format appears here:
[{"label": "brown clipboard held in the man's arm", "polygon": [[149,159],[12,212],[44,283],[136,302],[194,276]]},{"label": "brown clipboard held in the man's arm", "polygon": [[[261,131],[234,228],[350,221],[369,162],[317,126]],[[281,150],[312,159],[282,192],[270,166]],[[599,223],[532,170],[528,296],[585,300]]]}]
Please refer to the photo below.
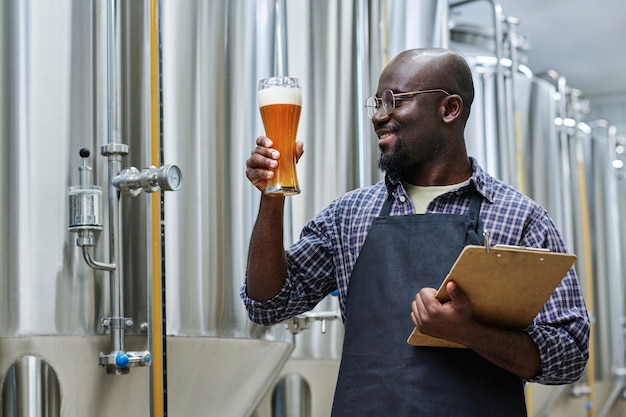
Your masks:
[{"label": "brown clipboard held in the man's arm", "polygon": [[[437,291],[450,300],[446,284],[458,285],[472,305],[476,320],[506,329],[524,329],[534,320],[556,287],[574,265],[576,255],[518,246],[468,245]],[[465,346],[413,330],[407,343],[414,346]]]}]

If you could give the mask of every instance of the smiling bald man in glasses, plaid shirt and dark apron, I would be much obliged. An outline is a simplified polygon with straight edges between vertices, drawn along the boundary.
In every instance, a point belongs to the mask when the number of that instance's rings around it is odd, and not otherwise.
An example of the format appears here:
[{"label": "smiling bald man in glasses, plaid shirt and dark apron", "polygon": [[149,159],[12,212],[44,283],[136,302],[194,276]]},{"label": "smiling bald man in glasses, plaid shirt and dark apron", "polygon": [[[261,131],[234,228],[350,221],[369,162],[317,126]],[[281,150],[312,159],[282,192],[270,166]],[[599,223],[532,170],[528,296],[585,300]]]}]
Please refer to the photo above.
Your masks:
[{"label": "smiling bald man in glasses, plaid shirt and dark apron", "polygon": [[[261,197],[241,296],[269,325],[339,290],[346,332],[333,416],[522,417],[525,381],[571,383],[584,371],[589,318],[573,269],[523,331],[475,321],[454,282],[449,302],[435,298],[483,231],[491,244],[566,251],[542,207],[468,157],[473,98],[460,55],[405,51],[366,103],[385,180],[333,201],[287,251],[284,198]],[[256,143],[246,174],[263,190],[280,161],[270,139]],[[468,349],[410,346],[414,326]]]}]

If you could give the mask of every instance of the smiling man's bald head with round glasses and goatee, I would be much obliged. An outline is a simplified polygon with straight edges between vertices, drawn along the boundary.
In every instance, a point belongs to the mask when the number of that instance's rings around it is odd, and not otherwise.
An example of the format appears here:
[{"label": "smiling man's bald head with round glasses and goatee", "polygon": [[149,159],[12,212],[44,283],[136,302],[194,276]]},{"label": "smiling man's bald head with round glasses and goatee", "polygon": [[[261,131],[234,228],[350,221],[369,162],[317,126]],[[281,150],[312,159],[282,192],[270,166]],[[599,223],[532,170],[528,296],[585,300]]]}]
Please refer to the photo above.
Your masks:
[{"label": "smiling man's bald head with round glasses and goatee", "polygon": [[474,86],[461,55],[433,48],[404,51],[383,70],[376,97],[382,106],[372,123],[381,169],[413,183],[430,183],[448,181],[439,172],[443,167],[467,164],[463,131]]}]

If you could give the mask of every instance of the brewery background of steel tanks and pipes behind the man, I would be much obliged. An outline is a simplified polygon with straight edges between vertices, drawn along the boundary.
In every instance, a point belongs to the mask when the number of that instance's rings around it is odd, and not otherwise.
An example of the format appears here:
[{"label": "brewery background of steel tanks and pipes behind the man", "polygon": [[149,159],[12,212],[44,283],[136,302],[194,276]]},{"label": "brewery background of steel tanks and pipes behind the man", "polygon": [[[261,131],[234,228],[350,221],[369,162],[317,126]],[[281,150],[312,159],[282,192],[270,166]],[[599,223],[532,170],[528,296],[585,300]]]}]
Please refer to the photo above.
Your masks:
[{"label": "brewery background of steel tanks and pipes behind the man", "polygon": [[257,83],[303,83],[289,244],[382,178],[360,103],[426,46],[472,67],[469,153],[577,255],[590,360],[574,384],[527,384],[529,417],[626,415],[625,16],[622,0],[1,2],[0,416],[327,417],[336,298],[264,327],[239,297]]}]

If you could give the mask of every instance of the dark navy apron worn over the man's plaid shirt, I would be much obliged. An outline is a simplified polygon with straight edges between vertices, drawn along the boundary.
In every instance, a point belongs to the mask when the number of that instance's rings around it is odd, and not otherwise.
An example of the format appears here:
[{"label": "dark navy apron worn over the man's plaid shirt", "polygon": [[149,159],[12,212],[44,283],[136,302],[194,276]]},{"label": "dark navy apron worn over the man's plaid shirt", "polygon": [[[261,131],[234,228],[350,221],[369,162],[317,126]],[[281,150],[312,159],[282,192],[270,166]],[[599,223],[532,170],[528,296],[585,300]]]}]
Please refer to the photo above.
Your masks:
[{"label": "dark navy apron worn over the man's plaid shirt", "polygon": [[470,349],[416,347],[411,302],[439,288],[465,245],[481,244],[482,196],[467,216],[374,219],[354,266],[333,417],[526,417],[522,380]]}]

